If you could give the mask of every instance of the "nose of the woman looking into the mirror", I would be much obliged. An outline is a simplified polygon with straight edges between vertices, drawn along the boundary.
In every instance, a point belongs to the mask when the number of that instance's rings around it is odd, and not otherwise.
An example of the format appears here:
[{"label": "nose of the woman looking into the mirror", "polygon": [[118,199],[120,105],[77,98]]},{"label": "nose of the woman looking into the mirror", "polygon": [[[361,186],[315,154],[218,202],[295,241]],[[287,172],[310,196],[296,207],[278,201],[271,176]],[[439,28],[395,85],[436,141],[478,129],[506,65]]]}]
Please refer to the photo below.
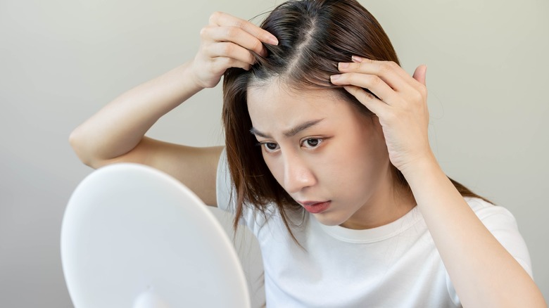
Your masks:
[{"label": "nose of the woman looking into the mirror", "polygon": [[288,193],[297,193],[303,188],[317,183],[313,170],[298,154],[286,155],[284,158],[284,189]]}]

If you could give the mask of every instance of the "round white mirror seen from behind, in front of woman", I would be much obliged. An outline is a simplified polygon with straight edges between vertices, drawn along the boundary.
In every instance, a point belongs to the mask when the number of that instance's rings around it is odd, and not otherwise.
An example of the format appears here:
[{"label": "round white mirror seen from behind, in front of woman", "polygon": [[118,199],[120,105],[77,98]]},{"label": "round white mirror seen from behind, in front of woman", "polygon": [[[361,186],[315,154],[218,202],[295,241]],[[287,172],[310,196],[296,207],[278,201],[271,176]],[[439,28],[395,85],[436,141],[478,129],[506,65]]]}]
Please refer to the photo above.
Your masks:
[{"label": "round white mirror seen from behind, in front of woman", "polygon": [[61,262],[76,308],[250,307],[220,223],[189,188],[144,165],[109,165],[77,186]]}]

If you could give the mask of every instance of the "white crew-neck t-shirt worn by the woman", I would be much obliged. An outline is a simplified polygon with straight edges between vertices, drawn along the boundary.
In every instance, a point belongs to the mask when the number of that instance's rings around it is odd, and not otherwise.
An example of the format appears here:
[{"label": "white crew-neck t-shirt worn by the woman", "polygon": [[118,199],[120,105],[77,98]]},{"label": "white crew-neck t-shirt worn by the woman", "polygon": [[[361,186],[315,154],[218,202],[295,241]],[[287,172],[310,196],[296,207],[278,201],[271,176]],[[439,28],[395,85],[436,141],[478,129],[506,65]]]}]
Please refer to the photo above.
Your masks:
[{"label": "white crew-neck t-shirt worn by the woman", "polygon": [[[222,210],[234,208],[232,188],[224,152],[217,168]],[[512,214],[478,198],[465,200],[531,276],[529,253]],[[261,248],[267,307],[461,307],[417,207],[367,230],[324,226],[307,213],[292,227],[303,248],[270,208],[268,219],[247,210],[241,220]]]}]

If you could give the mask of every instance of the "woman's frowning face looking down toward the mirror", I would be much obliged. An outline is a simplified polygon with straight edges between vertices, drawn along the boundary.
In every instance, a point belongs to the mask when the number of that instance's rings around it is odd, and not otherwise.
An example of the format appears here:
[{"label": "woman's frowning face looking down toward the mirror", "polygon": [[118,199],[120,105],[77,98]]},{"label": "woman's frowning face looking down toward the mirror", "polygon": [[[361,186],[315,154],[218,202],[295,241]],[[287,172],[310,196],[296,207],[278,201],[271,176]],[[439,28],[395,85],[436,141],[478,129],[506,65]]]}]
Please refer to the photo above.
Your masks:
[{"label": "woman's frowning face looking down toward the mirror", "polygon": [[362,229],[372,207],[391,195],[377,117],[362,115],[334,90],[251,87],[248,111],[274,178],[322,224]]}]

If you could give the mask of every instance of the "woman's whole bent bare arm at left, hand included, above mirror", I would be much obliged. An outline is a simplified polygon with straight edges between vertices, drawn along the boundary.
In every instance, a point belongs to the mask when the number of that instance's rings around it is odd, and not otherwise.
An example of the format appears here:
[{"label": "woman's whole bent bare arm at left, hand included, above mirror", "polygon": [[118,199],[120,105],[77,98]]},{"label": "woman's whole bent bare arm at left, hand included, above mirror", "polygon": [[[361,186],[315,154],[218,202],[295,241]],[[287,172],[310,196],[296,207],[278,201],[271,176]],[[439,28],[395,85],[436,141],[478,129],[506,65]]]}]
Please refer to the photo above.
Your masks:
[{"label": "woman's whole bent bare arm at left, hand included, above mirror", "polygon": [[220,147],[193,148],[146,138],[160,117],[206,87],[220,81],[227,68],[249,69],[251,51],[265,53],[272,34],[225,13],[213,13],[201,31],[195,58],[141,84],[99,110],[70,134],[70,145],[90,167],[138,162],[182,181],[203,201],[215,205],[215,172]]}]

